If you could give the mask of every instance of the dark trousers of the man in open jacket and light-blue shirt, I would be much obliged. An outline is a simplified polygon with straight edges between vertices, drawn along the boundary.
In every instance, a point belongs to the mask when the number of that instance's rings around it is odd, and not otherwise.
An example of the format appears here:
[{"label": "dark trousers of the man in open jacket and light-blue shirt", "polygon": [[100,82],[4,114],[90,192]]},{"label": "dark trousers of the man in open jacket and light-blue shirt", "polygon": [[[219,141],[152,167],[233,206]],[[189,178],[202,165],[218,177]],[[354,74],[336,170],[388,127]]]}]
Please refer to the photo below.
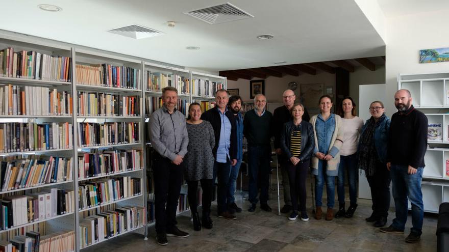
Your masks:
[{"label": "dark trousers of the man in open jacket and light-blue shirt", "polygon": [[229,189],[229,174],[231,172],[231,161],[229,158],[226,159],[226,163],[214,162],[213,177],[218,178],[218,189],[217,189],[217,210],[218,214],[226,212],[228,209],[228,203],[226,194]]}]

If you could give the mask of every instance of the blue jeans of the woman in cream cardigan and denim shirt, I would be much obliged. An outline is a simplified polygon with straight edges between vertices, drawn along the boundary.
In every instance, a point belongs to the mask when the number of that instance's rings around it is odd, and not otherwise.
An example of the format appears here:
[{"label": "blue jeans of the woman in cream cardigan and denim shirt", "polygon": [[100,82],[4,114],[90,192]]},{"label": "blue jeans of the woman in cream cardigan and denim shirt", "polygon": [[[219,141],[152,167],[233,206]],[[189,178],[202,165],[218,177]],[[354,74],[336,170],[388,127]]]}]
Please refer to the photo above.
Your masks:
[{"label": "blue jeans of the woman in cream cardigan and denim shirt", "polygon": [[328,208],[333,208],[335,205],[335,176],[326,175],[326,164],[325,160],[318,160],[318,175],[315,176],[315,205],[317,207],[322,206],[321,198],[324,183],[326,180],[326,192],[328,194]]}]

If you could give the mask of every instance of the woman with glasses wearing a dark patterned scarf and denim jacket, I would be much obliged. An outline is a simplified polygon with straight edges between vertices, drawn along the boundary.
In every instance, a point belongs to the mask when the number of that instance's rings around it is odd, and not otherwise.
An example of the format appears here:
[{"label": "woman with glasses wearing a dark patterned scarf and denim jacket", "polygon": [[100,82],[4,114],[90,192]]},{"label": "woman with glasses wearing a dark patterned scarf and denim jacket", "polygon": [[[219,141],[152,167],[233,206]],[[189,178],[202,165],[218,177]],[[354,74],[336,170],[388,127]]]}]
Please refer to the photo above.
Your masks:
[{"label": "woman with glasses wearing a dark patterned scarf and denim jacket", "polygon": [[385,115],[381,101],[373,101],[369,112],[371,118],[362,128],[358,147],[359,168],[365,171],[372,198],[372,213],[365,220],[374,222],[375,227],[383,227],[390,207],[391,177],[386,165],[390,119]]}]

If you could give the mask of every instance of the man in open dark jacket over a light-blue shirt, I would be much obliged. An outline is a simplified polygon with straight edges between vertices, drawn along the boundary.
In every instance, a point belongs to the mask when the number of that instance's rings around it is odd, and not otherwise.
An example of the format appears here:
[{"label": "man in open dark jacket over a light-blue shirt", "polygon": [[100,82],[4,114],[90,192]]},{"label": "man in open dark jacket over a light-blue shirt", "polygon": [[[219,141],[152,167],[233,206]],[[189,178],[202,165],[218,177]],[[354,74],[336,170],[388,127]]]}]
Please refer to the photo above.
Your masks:
[{"label": "man in open dark jacket over a light-blue shirt", "polygon": [[212,124],[215,134],[215,146],[212,153],[215,157],[214,180],[218,177],[217,205],[218,217],[236,219],[228,211],[227,191],[231,165],[237,163],[237,131],[234,114],[228,110],[228,91],[220,89],[215,94],[215,107],[207,110],[201,119]]}]

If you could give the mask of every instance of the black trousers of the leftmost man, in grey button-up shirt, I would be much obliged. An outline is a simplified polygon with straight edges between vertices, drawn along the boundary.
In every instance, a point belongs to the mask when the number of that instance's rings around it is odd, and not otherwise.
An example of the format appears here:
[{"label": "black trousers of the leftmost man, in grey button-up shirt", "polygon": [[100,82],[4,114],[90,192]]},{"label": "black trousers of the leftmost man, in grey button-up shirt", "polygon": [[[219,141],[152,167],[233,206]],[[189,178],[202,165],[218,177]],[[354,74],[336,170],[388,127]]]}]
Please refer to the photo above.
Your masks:
[{"label": "black trousers of the leftmost man, in grey button-up shirt", "polygon": [[183,182],[183,168],[170,159],[155,153],[153,177],[155,183],[156,233],[164,234],[174,228],[179,194]]}]

